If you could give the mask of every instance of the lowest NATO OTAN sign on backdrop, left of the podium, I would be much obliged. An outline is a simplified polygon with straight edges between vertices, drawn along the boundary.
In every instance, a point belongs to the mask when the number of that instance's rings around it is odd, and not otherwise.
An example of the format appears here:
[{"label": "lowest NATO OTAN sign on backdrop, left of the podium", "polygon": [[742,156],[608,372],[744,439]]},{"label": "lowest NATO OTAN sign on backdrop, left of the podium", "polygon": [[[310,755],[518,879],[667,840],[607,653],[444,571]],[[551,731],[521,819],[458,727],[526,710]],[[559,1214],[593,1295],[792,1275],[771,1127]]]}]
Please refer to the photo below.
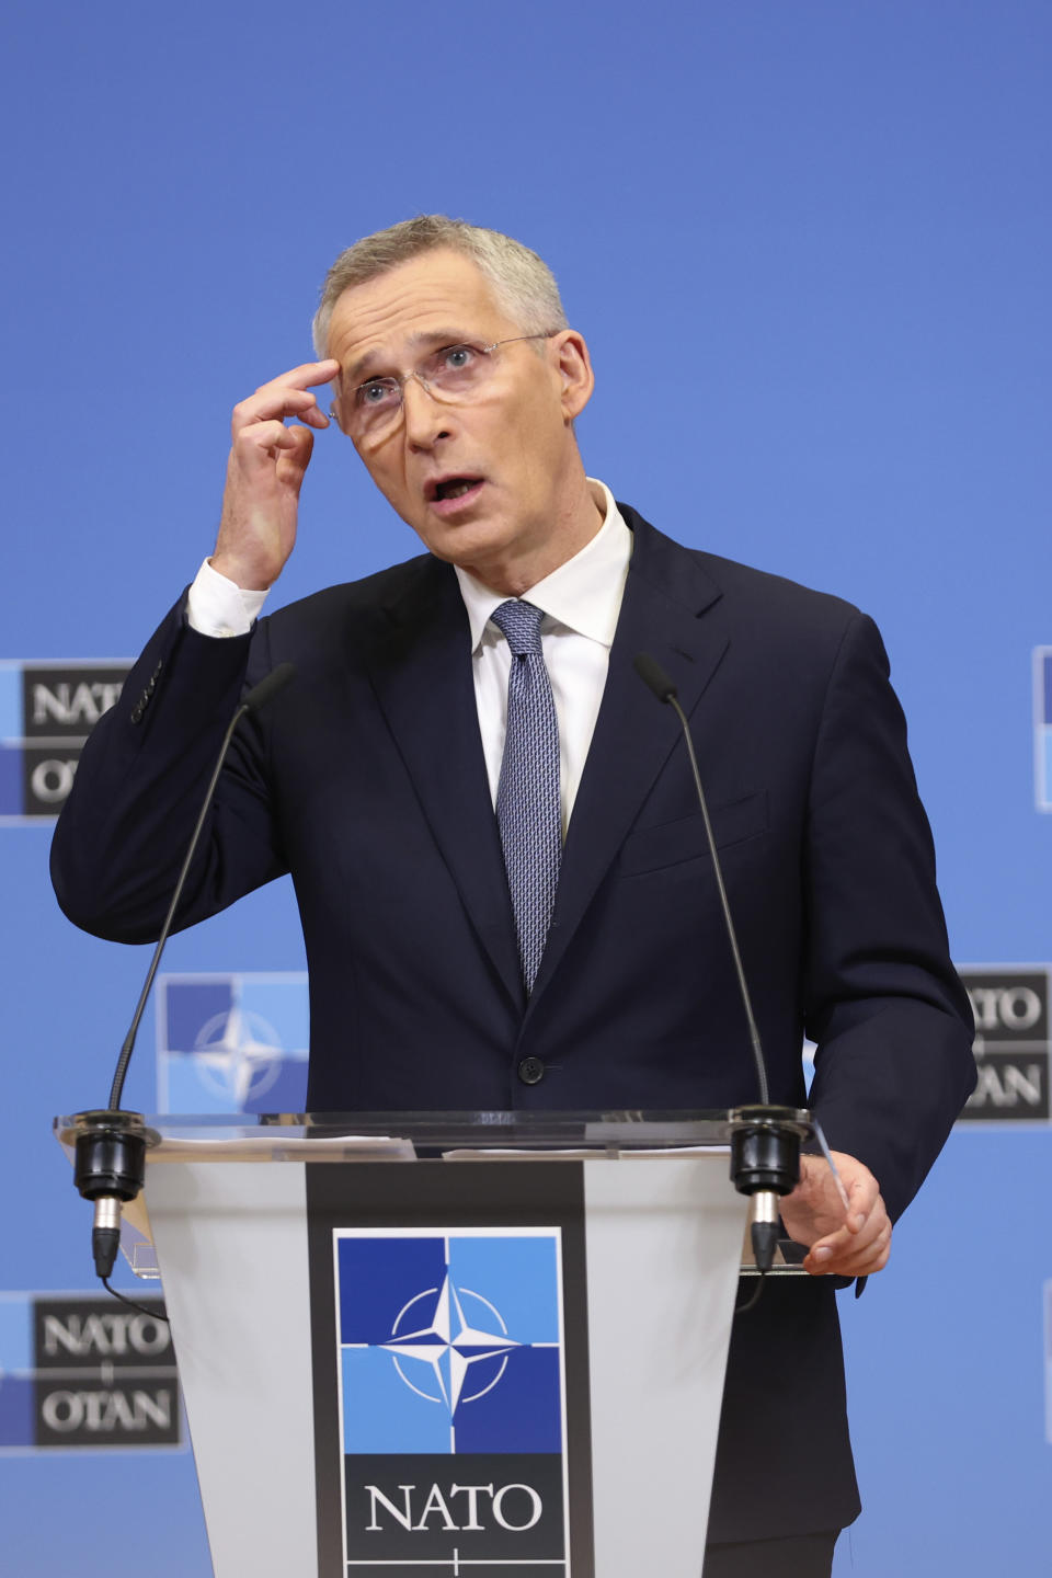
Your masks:
[{"label": "lowest NATO OTAN sign on backdrop, left of the podium", "polygon": [[0,1453],[181,1447],[159,1299],[0,1294]]}]

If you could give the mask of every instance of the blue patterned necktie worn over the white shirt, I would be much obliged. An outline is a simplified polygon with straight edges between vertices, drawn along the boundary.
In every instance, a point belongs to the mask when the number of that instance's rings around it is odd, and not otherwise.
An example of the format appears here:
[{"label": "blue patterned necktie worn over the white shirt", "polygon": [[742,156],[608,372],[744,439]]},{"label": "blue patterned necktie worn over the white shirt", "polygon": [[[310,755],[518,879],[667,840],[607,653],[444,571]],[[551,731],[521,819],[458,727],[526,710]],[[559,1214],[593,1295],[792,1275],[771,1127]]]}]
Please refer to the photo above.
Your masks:
[{"label": "blue patterned necktie worn over the white shirt", "polygon": [[511,647],[508,732],[500,762],[497,825],[527,993],[533,991],[541,966],[563,855],[558,720],[541,652],[543,617],[539,608],[517,600],[502,603],[491,614]]}]

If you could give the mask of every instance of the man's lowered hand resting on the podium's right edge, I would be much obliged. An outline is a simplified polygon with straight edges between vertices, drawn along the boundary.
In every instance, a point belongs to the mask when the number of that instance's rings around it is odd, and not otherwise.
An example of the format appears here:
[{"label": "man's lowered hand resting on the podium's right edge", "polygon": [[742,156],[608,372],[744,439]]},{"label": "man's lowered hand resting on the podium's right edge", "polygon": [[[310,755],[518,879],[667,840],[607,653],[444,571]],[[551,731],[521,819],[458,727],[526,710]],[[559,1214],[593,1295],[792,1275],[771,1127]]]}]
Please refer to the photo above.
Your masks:
[{"label": "man's lowered hand resting on the podium's right edge", "polygon": [[825,1157],[800,1158],[800,1184],[781,1202],[792,1239],[809,1245],[804,1270],[812,1277],[869,1277],[891,1253],[891,1221],[877,1179],[863,1161],[833,1152],[847,1191],[847,1210]]}]

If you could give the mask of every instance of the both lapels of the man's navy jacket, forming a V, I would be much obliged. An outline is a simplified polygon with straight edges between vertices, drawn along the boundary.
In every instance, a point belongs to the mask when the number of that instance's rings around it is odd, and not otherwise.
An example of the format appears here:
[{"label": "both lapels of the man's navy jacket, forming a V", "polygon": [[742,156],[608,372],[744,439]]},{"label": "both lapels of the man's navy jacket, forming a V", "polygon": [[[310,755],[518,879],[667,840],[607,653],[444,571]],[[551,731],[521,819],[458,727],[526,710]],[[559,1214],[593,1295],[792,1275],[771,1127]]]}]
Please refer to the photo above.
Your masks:
[{"label": "both lapels of the man's navy jacket, forming a V", "polygon": [[697,557],[620,508],[634,532],[632,560],[528,1007],[478,727],[467,611],[446,565],[418,560],[408,589],[380,609],[379,638],[366,655],[377,701],[472,925],[527,1016],[680,739],[675,716],[647,690],[632,658],[650,652],[675,680],[689,715],[727,647],[724,631],[702,617],[721,592]]}]

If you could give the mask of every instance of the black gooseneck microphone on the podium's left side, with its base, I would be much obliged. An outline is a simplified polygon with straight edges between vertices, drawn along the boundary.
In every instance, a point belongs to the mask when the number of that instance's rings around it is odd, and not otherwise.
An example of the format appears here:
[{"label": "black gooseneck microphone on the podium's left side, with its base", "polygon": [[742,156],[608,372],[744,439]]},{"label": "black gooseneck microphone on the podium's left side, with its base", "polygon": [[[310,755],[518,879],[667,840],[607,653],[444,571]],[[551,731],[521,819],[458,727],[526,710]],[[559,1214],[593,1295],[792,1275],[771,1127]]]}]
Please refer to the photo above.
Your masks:
[{"label": "black gooseneck microphone on the podium's left side, with its base", "polygon": [[[254,685],[252,690],[248,691],[227,724],[211,778],[208,780],[205,798],[202,800],[200,811],[197,813],[197,822],[194,824],[194,832],[191,833],[183,865],[175,881],[175,892],[172,893],[172,901],[150,959],[150,969],[147,970],[147,978],[142,991],[139,993],[139,1002],[136,1004],[128,1035],[123,1040],[120,1056],[117,1059],[109,1105],[103,1111],[77,1112],[76,1117],[77,1139],[73,1177],[84,1199],[90,1199],[95,1204],[91,1255],[95,1259],[95,1272],[106,1288],[109,1288],[107,1278],[112,1275],[114,1264],[117,1261],[117,1250],[120,1247],[121,1207],[128,1204],[128,1201],[136,1199],[139,1195],[145,1179],[147,1147],[151,1139],[156,1142],[156,1136],[147,1130],[142,1114],[125,1112],[120,1106],[128,1065],[136,1048],[136,1037],[150,997],[150,988],[153,986],[153,978],[158,974],[161,955],[169,939],[172,922],[175,920],[175,912],[183,896],[183,888],[186,887],[186,877],[197,852],[197,844],[200,843],[205,819],[216,792],[216,784],[219,783],[219,775],[227,759],[227,751],[230,750],[233,731],[241,720],[248,716],[248,713],[259,712],[270,701],[273,701],[278,691],[284,690],[293,679],[295,672],[297,669],[293,663],[279,663],[278,667],[271,669],[271,672],[259,682],[259,685]],[[109,1288],[109,1291],[118,1299],[123,1299],[123,1294],[117,1294],[114,1288]],[[128,1303],[129,1300],[123,1299],[123,1302]]]}]

